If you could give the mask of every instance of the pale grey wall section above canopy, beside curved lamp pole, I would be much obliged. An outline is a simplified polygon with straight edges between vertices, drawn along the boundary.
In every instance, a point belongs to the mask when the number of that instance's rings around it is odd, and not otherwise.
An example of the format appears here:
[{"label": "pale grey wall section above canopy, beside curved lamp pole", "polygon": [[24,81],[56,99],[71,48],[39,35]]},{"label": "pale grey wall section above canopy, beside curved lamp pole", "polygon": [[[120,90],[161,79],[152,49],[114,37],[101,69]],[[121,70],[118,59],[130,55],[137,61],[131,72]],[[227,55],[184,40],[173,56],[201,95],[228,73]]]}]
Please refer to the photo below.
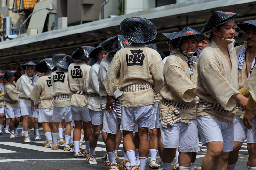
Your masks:
[{"label": "pale grey wall section above canopy, beside curved lamp pole", "polygon": [[120,13],[118,5],[119,0],[109,0],[104,6],[104,18],[108,18],[109,15],[118,15]]}]

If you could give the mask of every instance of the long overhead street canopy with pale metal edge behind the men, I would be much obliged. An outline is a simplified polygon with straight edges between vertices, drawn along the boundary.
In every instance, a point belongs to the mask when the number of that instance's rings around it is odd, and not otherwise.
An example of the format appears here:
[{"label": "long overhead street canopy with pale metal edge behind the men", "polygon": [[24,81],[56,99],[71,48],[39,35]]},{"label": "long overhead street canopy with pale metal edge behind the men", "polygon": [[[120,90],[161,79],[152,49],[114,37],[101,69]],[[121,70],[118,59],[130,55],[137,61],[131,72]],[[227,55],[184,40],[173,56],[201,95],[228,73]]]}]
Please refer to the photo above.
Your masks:
[{"label": "long overhead street canopy with pale metal edge behind the men", "polygon": [[[56,53],[71,55],[80,46],[94,46],[109,37],[120,35],[119,24],[128,17],[150,19],[158,32],[156,39],[150,43],[157,44],[166,52],[167,39],[162,33],[180,31],[185,26],[201,31],[214,10],[239,12],[236,22],[255,19],[256,9],[248,10],[249,4],[256,6],[255,0],[191,0],[4,41],[0,42],[0,66],[13,62],[22,64],[30,60],[36,62]],[[235,39],[244,41],[243,37]]]}]

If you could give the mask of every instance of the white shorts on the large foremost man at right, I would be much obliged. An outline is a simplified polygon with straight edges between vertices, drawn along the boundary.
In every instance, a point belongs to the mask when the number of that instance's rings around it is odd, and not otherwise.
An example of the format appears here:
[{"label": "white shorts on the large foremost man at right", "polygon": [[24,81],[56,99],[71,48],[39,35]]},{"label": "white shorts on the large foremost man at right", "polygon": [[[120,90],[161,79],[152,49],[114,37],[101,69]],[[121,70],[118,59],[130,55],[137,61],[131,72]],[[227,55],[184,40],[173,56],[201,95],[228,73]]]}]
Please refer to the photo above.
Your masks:
[{"label": "white shorts on the large foremost man at right", "polygon": [[203,146],[209,142],[220,141],[224,145],[223,152],[233,150],[234,123],[223,122],[210,115],[196,116],[196,122]]}]

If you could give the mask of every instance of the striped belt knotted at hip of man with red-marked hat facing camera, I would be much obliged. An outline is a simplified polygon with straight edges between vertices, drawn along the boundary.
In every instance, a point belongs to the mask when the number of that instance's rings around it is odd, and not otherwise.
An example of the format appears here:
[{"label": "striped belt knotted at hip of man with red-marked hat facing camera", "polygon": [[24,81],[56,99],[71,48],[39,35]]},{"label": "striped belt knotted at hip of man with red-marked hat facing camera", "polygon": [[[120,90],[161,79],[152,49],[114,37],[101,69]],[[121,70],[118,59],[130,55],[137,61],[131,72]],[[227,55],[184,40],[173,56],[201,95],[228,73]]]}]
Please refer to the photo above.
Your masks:
[{"label": "striped belt knotted at hip of man with red-marked hat facing camera", "polygon": [[170,107],[167,114],[164,117],[162,126],[167,128],[168,126],[173,126],[174,123],[177,123],[182,120],[180,116],[180,109],[190,109],[195,107],[196,104],[184,104],[178,103],[172,100],[162,99],[161,103],[165,106]]}]

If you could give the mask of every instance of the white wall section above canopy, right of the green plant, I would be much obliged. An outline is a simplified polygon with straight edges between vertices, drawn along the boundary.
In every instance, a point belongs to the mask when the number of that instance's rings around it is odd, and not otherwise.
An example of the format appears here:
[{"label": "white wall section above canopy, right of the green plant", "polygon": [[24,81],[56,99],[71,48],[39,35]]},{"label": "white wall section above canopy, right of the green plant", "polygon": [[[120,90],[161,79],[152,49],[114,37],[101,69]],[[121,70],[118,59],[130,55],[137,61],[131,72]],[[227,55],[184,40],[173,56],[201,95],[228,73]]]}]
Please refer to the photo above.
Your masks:
[{"label": "white wall section above canopy, right of the green plant", "polygon": [[124,14],[155,8],[155,0],[125,0]]}]

